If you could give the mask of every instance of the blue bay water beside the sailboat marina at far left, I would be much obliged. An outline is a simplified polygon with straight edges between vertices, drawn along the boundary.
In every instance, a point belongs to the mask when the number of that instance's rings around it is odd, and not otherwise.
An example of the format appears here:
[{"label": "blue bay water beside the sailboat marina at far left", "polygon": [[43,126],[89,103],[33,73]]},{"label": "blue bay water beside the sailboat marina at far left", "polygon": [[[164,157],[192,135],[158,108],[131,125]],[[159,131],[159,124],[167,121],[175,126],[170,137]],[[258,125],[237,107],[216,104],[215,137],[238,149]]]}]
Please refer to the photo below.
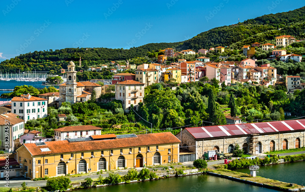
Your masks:
[{"label": "blue bay water beside the sailboat marina at far left", "polygon": [[[0,81],[0,89],[14,89],[16,86],[21,86],[21,85],[30,85],[38,89],[43,89],[45,86],[41,85],[42,81],[37,81],[37,82],[32,82],[32,81],[15,81],[15,80],[10,80],[10,81]],[[59,88],[59,86],[55,86],[56,88]],[[48,87],[47,87],[48,88]],[[0,95],[2,93],[9,93],[12,91],[0,91]],[[0,101],[9,101],[11,100],[10,98],[0,98]]]}]

